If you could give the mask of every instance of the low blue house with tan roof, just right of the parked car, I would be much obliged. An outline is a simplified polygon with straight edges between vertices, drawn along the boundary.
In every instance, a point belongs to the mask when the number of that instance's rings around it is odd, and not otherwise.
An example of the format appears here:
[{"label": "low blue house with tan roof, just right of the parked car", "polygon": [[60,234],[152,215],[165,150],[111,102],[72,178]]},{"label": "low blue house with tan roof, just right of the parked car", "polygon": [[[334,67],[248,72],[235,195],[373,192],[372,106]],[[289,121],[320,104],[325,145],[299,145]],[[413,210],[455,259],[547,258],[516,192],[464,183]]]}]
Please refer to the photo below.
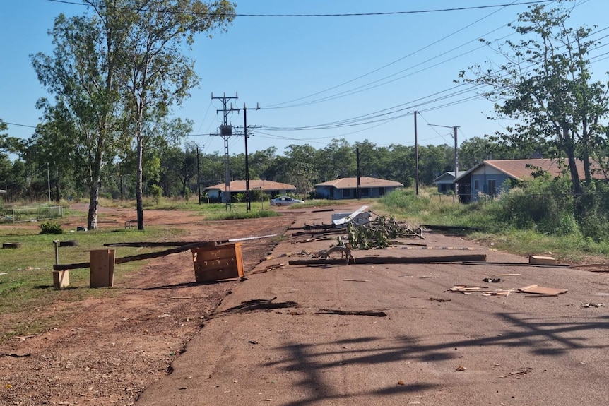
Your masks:
[{"label": "low blue house with tan roof, just right of the parked car", "polygon": [[[385,179],[360,177],[362,198],[376,198],[404,185]],[[333,200],[357,198],[357,178],[341,178],[316,184],[315,195]]]}]

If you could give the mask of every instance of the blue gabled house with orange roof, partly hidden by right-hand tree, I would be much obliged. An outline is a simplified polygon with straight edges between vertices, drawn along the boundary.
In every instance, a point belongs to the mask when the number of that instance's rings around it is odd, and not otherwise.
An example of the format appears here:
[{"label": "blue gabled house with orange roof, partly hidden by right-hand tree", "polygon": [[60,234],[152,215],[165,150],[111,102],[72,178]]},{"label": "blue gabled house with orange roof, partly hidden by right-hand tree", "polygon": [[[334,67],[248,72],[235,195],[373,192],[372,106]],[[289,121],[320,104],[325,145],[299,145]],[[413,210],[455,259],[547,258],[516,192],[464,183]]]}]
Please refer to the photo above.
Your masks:
[{"label": "blue gabled house with orange roof, partly hidden by right-hand tree", "polygon": [[[496,196],[501,191],[509,189],[511,184],[525,179],[531,179],[533,173],[542,170],[555,178],[568,167],[566,159],[531,159],[531,160],[489,160],[480,162],[475,167],[460,174],[454,180],[459,190],[459,201],[468,203],[478,200],[480,194]],[[591,164],[591,169],[599,169]],[[577,171],[584,179],[584,162],[577,161]],[[602,172],[595,171],[593,177],[604,179]]]}]

